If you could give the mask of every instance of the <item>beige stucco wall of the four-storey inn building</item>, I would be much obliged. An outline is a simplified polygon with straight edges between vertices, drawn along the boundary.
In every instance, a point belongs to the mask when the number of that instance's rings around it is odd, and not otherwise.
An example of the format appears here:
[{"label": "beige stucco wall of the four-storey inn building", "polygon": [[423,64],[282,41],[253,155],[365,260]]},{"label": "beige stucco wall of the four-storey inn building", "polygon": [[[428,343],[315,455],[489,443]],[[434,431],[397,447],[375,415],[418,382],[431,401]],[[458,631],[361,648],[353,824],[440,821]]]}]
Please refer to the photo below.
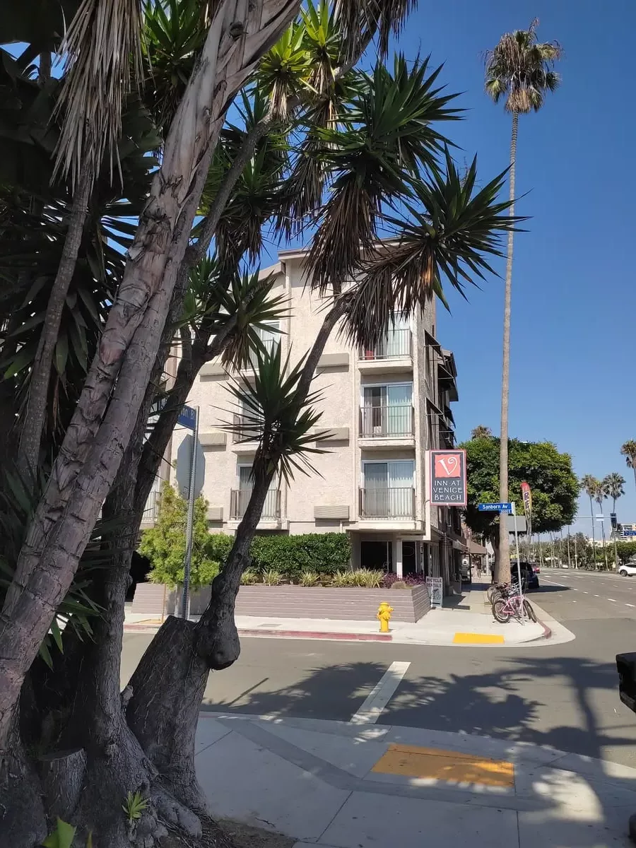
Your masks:
[{"label": "beige stucco wall of the four-storey inn building", "polygon": [[[289,318],[282,324],[283,353],[290,353],[293,362],[310,348],[320,329],[324,306],[309,287],[301,265],[302,259],[282,258],[276,278],[276,293],[285,293],[289,298]],[[360,374],[358,353],[338,332],[333,332],[326,343],[325,354],[349,354],[348,365],[338,365],[319,369],[313,388],[320,394],[315,406],[323,412],[320,427],[325,429],[349,428],[349,439],[330,441],[321,444],[327,452],[311,455],[310,462],[318,473],[309,476],[297,473],[289,488],[284,485],[281,494],[282,522],[280,528],[289,533],[325,533],[339,529],[365,530],[365,522],[358,522],[359,487],[361,482],[362,461],[367,459],[414,459],[416,485],[416,519],[423,521],[427,515],[427,494],[425,485],[425,450],[427,444],[427,410],[424,397],[427,392],[425,362],[427,350],[424,342],[424,326],[428,332],[435,329],[435,304],[432,302],[423,315],[417,315],[413,321],[413,371],[390,373],[383,376]],[[360,408],[360,384],[413,381],[413,402],[415,406],[414,446],[392,447],[386,449],[362,448],[358,444],[358,422]],[[432,381],[435,391],[436,381]],[[199,407],[201,433],[219,432],[223,424],[232,421],[232,396],[227,392],[229,377],[199,376],[190,393],[187,403]],[[172,442],[172,457],[184,437],[185,432],[177,429]],[[211,507],[223,509],[223,522],[215,522],[210,529],[223,529],[232,532],[236,522],[229,522],[230,492],[237,488],[237,466],[249,464],[253,455],[245,449],[237,449],[232,444],[232,434],[226,434],[226,444],[215,444],[204,449],[206,472],[203,494]],[[349,506],[349,521],[315,519],[315,506]],[[437,512],[437,510],[432,510]],[[432,516],[432,524],[437,516]],[[421,525],[419,525],[421,527]],[[387,526],[388,530],[392,527]],[[393,529],[399,529],[395,527]],[[375,528],[373,531],[375,532]],[[421,531],[420,531],[421,532]],[[430,527],[425,525],[421,538],[430,538]]]}]

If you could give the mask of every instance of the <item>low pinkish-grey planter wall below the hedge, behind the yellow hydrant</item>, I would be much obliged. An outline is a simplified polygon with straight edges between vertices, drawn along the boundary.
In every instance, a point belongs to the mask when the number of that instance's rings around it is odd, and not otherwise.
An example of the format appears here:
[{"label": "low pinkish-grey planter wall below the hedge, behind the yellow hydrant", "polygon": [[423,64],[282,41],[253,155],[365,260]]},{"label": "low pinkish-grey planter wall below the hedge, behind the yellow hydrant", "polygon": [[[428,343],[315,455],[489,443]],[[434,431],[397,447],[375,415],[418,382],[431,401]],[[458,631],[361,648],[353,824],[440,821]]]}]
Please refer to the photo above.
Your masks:
[{"label": "low pinkish-grey planter wall below the hedge, behind the yellow hydrant", "polygon": [[[175,592],[153,583],[139,583],[132,612],[169,615]],[[374,621],[382,600],[393,606],[393,620],[415,623],[431,609],[426,586],[412,589],[336,589],[305,586],[242,586],[237,595],[237,616],[275,618],[330,618],[336,621]],[[209,602],[209,589],[192,593],[190,612],[201,615]]]}]

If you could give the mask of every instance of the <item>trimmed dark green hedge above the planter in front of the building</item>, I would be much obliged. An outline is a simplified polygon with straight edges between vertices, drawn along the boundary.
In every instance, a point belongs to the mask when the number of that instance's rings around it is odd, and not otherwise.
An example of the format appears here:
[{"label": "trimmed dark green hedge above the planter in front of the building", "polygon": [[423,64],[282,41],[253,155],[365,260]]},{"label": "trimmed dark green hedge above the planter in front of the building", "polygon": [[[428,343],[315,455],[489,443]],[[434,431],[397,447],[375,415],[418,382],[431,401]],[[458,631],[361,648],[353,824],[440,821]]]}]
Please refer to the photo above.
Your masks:
[{"label": "trimmed dark green hedge above the planter in front of the building", "polygon": [[[226,533],[211,533],[209,556],[224,562],[233,541],[234,537]],[[348,568],[351,544],[347,533],[255,536],[250,553],[254,571],[273,569],[294,579],[304,571],[332,575],[338,569]]]}]

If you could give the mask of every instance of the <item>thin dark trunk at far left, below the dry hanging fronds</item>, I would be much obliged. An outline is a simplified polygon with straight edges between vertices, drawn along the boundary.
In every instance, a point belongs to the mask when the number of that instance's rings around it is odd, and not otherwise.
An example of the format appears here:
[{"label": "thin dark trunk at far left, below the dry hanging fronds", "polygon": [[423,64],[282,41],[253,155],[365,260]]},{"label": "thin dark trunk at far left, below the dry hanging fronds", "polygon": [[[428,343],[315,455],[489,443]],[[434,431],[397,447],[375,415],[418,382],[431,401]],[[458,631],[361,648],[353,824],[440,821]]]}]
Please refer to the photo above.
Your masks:
[{"label": "thin dark trunk at far left, below the dry hanging fronds", "polygon": [[91,186],[92,179],[88,170],[86,170],[73,197],[62,257],[48,297],[47,311],[37,344],[36,358],[33,360],[31,368],[29,395],[26,401],[24,419],[20,427],[17,463],[18,471],[25,481],[35,479],[42,430],[47,415],[48,387],[51,382],[53,354],[55,345],[58,343],[59,326],[62,323],[66,295],[69,293],[70,282],[75,273],[77,254],[80,251]]}]

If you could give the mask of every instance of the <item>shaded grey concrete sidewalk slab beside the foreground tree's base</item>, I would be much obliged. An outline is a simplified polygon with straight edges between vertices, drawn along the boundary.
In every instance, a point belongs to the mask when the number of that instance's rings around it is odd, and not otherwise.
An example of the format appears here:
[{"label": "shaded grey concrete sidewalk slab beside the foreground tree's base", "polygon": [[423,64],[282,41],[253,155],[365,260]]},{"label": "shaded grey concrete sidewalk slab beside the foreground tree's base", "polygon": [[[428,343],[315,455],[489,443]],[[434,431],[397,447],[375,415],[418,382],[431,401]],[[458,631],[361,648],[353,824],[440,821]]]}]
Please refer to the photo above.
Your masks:
[{"label": "shaded grey concrete sidewalk slab beside the foreground tree's base", "polygon": [[317,840],[349,795],[234,732],[195,764],[212,816],[297,840]]}]

